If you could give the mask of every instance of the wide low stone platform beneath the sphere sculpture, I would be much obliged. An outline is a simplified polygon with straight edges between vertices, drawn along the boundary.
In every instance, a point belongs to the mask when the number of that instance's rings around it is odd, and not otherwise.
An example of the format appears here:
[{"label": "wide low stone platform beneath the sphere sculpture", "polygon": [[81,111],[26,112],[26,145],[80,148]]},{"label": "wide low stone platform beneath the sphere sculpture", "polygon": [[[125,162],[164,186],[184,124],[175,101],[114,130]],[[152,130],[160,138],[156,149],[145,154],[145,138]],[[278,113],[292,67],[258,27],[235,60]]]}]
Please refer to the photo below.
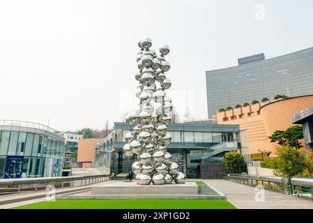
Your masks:
[{"label": "wide low stone platform beneath the sphere sculpture", "polygon": [[137,185],[136,182],[95,185],[84,192],[70,192],[56,199],[226,199],[209,185],[184,184]]}]

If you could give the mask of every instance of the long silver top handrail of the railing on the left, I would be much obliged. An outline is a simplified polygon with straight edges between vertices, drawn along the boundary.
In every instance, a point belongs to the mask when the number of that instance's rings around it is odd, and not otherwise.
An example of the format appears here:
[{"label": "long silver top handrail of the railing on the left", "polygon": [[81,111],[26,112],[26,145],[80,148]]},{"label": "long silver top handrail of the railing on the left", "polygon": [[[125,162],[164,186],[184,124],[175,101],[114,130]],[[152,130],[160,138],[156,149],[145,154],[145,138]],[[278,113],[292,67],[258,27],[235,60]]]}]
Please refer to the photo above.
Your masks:
[{"label": "long silver top handrail of the railing on the left", "polygon": [[42,178],[14,178],[14,179],[1,179],[0,185],[24,185],[36,183],[56,183],[67,182],[73,180],[86,180],[92,178],[109,177],[109,174],[91,175],[91,176],[62,176],[62,177],[42,177]]}]

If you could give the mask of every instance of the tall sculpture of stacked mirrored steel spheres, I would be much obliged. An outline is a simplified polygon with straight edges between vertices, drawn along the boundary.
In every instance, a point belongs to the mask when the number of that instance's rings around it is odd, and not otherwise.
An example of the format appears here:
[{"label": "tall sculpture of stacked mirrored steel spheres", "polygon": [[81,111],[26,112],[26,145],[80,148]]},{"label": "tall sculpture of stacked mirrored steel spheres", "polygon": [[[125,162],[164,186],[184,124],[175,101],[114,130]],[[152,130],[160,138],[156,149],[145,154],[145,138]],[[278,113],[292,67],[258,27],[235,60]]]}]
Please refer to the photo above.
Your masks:
[{"label": "tall sculpture of stacked mirrored steel spheres", "polygon": [[125,155],[137,155],[137,162],[132,164],[139,185],[162,185],[165,183],[185,183],[185,175],[179,171],[176,162],[171,162],[167,153],[167,144],[171,134],[167,124],[171,122],[171,98],[165,90],[171,87],[166,72],[171,65],[165,60],[169,46],[160,47],[157,54],[151,49],[150,38],[139,40],[137,54],[138,82],[136,96],[139,106],[135,112],[126,116],[126,122],[135,125],[132,132],[125,134],[127,144],[123,147]]}]

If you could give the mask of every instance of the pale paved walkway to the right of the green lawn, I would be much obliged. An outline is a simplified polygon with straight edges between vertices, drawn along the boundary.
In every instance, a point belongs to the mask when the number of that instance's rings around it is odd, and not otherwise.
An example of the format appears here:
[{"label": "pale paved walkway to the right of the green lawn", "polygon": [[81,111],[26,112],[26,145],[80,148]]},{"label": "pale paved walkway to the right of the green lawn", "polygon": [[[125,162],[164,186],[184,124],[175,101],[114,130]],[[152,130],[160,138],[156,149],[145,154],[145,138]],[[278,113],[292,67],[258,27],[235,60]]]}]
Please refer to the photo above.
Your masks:
[{"label": "pale paved walkway to the right of the green lawn", "polygon": [[227,196],[227,200],[238,209],[313,209],[310,199],[292,197],[280,192],[264,190],[264,201],[256,201],[258,190],[254,187],[227,180],[204,180],[208,185]]}]

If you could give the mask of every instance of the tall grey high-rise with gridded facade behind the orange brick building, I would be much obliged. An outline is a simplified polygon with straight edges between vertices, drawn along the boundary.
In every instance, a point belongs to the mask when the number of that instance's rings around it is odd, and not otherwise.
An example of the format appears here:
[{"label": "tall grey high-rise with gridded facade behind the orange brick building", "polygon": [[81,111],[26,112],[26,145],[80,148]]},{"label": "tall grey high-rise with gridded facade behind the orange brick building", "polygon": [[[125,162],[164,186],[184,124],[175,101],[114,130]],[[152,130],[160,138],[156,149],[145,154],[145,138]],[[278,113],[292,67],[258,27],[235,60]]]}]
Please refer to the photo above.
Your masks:
[{"label": "tall grey high-rise with gridded facade behind the orange brick building", "polygon": [[208,118],[221,108],[275,95],[312,95],[312,83],[313,47],[272,59],[238,59],[238,66],[206,71]]}]

